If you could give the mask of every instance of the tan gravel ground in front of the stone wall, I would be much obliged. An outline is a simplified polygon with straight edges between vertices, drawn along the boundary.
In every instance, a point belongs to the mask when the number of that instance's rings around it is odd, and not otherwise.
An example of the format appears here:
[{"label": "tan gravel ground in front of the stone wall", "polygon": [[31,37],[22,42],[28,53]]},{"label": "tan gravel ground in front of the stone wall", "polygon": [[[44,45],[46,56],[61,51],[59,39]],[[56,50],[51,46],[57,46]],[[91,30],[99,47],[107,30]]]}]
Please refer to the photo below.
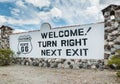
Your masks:
[{"label": "tan gravel ground in front of the stone wall", "polygon": [[0,84],[120,84],[112,70],[0,67]]}]

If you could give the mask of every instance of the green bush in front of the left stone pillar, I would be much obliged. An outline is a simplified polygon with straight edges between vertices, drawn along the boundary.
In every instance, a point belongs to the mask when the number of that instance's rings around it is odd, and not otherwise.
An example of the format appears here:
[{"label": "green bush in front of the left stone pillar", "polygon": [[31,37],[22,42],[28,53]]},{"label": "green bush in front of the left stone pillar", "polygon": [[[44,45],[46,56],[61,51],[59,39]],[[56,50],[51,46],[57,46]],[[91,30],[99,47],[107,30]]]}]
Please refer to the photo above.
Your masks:
[{"label": "green bush in front of the left stone pillar", "polygon": [[9,65],[13,60],[13,55],[10,49],[0,49],[0,66]]}]

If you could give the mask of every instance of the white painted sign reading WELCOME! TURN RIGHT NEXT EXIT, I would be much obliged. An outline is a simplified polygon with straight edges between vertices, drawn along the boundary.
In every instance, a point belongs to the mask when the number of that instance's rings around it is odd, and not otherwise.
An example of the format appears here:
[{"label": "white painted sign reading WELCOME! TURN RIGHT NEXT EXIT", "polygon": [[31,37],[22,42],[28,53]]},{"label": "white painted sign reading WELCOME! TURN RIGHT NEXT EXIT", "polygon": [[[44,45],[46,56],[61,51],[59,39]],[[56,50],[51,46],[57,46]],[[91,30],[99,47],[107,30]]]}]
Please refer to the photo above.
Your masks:
[{"label": "white painted sign reading WELCOME! TURN RIGHT NEXT EXIT", "polygon": [[19,57],[103,59],[104,24],[51,28],[10,36],[10,48]]}]

